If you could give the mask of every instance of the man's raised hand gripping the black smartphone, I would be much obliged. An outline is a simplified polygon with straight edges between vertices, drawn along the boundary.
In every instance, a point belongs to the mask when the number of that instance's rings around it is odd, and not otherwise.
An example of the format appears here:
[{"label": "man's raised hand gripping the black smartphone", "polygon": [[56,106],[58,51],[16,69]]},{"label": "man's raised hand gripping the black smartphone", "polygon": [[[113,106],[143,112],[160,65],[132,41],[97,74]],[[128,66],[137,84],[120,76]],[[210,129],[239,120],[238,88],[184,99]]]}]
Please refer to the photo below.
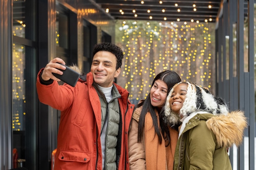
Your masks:
[{"label": "man's raised hand gripping the black smartphone", "polygon": [[53,79],[53,80],[56,80],[56,81],[61,81],[60,79],[56,78],[52,73],[57,73],[59,75],[62,75],[63,72],[58,70],[57,68],[61,69],[61,70],[65,70],[66,67],[61,65],[61,64],[58,64],[56,62],[59,62],[59,63],[62,63],[65,65],[65,62],[61,59],[61,58],[54,58],[53,60],[51,60],[46,66],[45,66],[45,69],[43,70],[43,73],[42,73],[42,79],[44,81],[47,81],[49,79]]}]

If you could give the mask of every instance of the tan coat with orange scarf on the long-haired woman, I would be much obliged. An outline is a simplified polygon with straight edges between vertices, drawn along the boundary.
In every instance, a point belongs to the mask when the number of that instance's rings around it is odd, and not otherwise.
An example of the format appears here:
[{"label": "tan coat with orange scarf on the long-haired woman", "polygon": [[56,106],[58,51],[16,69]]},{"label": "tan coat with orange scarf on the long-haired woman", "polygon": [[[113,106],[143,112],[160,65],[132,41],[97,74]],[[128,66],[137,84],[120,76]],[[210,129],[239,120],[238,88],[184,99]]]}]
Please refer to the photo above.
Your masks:
[{"label": "tan coat with orange scarf on the long-haired woman", "polygon": [[[164,138],[159,144],[155,134],[153,120],[150,113],[146,114],[143,140],[138,140],[138,122],[141,108],[137,108],[132,115],[132,123],[128,134],[128,152],[130,170],[173,170],[174,152],[178,139],[178,132],[169,128],[171,143],[165,147]],[[159,126],[159,115],[156,111]]]}]

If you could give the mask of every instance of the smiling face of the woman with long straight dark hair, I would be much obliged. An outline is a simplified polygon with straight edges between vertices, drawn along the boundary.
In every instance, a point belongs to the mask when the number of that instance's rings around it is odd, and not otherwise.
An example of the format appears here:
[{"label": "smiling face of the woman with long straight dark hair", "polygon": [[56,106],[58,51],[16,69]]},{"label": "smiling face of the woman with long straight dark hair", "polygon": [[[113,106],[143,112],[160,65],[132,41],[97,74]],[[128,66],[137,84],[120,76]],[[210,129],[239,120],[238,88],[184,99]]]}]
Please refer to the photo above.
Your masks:
[{"label": "smiling face of the woman with long straight dark hair", "polygon": [[150,102],[152,106],[162,107],[167,97],[168,87],[165,82],[157,79],[150,89]]}]

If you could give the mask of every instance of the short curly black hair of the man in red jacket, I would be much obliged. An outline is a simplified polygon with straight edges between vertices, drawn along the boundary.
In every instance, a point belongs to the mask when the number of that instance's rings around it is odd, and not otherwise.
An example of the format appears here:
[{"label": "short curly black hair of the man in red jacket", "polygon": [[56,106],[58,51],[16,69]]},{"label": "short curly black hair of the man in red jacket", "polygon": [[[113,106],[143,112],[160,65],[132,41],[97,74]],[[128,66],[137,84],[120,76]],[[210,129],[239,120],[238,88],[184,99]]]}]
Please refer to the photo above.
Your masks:
[{"label": "short curly black hair of the man in red jacket", "polygon": [[121,50],[121,48],[115,44],[112,44],[110,42],[101,42],[99,44],[94,45],[93,51],[92,51],[92,57],[99,51],[108,51],[112,54],[114,54],[117,57],[117,66],[116,70],[121,67],[122,60],[124,58],[124,53]]}]

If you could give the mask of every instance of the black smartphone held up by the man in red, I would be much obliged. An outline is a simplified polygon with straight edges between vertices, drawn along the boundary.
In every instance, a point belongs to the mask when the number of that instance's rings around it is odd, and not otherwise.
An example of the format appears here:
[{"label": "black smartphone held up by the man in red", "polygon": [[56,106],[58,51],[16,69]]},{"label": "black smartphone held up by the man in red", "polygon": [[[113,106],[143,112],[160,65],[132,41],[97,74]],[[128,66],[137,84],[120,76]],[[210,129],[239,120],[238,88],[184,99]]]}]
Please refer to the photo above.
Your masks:
[{"label": "black smartphone held up by the man in red", "polygon": [[63,72],[63,75],[59,75],[59,74],[56,74],[56,73],[52,73],[52,74],[55,77],[57,77],[58,79],[60,79],[61,81],[63,81],[65,83],[69,84],[70,86],[74,87],[76,85],[76,82],[79,79],[80,74],[77,73],[76,71],[72,70],[70,67],[62,64],[62,63],[58,63],[58,64],[61,64],[61,65],[66,67],[65,70],[57,68],[58,70]]}]

